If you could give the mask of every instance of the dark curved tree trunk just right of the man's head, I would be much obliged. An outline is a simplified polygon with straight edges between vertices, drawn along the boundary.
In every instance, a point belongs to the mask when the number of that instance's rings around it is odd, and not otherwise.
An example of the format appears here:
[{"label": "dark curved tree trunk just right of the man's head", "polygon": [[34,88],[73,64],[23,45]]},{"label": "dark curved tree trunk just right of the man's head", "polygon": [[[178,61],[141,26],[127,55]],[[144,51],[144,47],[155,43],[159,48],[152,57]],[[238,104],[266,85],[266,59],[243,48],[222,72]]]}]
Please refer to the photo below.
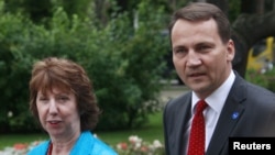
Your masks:
[{"label": "dark curved tree trunk just right of the man's head", "polygon": [[[260,40],[275,36],[275,11],[264,14],[242,14],[232,24],[237,45],[234,68],[244,77],[249,49]],[[244,65],[244,66],[243,66]]]}]

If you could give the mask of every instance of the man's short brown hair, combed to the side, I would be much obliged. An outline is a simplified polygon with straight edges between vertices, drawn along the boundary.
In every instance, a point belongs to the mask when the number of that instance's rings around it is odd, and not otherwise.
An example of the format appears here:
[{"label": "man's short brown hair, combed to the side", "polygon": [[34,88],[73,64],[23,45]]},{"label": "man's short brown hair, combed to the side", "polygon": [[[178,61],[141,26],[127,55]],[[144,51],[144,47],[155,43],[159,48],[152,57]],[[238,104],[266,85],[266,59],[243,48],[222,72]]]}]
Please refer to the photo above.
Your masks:
[{"label": "man's short brown hair, combed to the side", "polygon": [[230,22],[218,7],[207,2],[193,2],[177,10],[172,16],[169,33],[178,20],[206,21],[210,19],[216,21],[222,43],[227,43],[231,37]]}]

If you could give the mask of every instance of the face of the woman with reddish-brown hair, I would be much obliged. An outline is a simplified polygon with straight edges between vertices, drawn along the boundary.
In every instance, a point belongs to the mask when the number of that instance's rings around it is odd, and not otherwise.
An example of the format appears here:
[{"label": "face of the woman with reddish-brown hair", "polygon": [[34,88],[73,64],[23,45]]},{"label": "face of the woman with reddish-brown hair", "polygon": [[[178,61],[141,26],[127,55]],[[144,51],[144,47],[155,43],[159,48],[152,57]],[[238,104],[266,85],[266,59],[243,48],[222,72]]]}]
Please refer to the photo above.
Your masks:
[{"label": "face of the woman with reddish-brown hair", "polygon": [[68,137],[80,133],[80,117],[76,97],[73,92],[52,91],[37,92],[36,107],[44,130],[53,137]]}]

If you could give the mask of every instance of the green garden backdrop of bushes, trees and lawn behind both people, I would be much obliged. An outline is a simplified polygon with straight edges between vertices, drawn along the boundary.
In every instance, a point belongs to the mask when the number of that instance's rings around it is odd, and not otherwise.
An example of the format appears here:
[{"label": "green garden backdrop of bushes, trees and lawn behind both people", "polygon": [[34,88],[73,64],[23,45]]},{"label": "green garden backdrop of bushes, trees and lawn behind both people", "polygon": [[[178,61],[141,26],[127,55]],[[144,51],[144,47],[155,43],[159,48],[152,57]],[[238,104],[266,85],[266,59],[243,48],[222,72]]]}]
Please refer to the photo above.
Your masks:
[{"label": "green garden backdrop of bushes, trees and lawn behind both people", "polygon": [[[178,84],[170,62],[167,24],[170,13],[188,2],[0,0],[0,151],[15,143],[47,137],[29,111],[32,65],[47,56],[73,59],[87,70],[105,111],[95,131],[100,139],[117,145],[131,135],[139,135],[144,141],[163,143],[162,92],[186,90],[184,84]],[[226,0],[211,2],[224,7]],[[239,26],[244,24],[238,19],[243,11],[248,13],[251,8],[262,5],[264,11],[252,9],[249,13],[262,11],[265,18],[265,12],[274,13],[274,3],[272,0],[231,0],[224,11],[231,22],[239,21],[232,29],[242,32]],[[262,19],[258,14],[257,18]],[[243,51],[238,51],[234,68],[252,82],[275,91],[274,69],[265,74],[246,70],[249,48],[256,40],[275,34],[275,26],[264,22],[262,20],[263,25],[273,29],[254,29],[255,32],[268,31],[258,32],[257,37],[242,37],[242,42],[237,40],[245,46],[238,46]],[[172,82],[174,79],[177,79],[176,86]]]}]

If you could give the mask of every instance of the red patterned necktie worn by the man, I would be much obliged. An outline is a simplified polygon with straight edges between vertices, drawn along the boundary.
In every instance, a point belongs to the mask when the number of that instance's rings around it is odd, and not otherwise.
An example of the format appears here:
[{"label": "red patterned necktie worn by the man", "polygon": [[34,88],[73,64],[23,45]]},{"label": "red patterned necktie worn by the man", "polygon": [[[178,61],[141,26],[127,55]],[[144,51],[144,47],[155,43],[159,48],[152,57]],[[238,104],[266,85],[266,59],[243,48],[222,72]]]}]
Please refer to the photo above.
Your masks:
[{"label": "red patterned necktie worn by the man", "polygon": [[205,155],[205,118],[204,110],[207,107],[205,100],[200,100],[196,106],[196,113],[191,122],[188,155]]}]

